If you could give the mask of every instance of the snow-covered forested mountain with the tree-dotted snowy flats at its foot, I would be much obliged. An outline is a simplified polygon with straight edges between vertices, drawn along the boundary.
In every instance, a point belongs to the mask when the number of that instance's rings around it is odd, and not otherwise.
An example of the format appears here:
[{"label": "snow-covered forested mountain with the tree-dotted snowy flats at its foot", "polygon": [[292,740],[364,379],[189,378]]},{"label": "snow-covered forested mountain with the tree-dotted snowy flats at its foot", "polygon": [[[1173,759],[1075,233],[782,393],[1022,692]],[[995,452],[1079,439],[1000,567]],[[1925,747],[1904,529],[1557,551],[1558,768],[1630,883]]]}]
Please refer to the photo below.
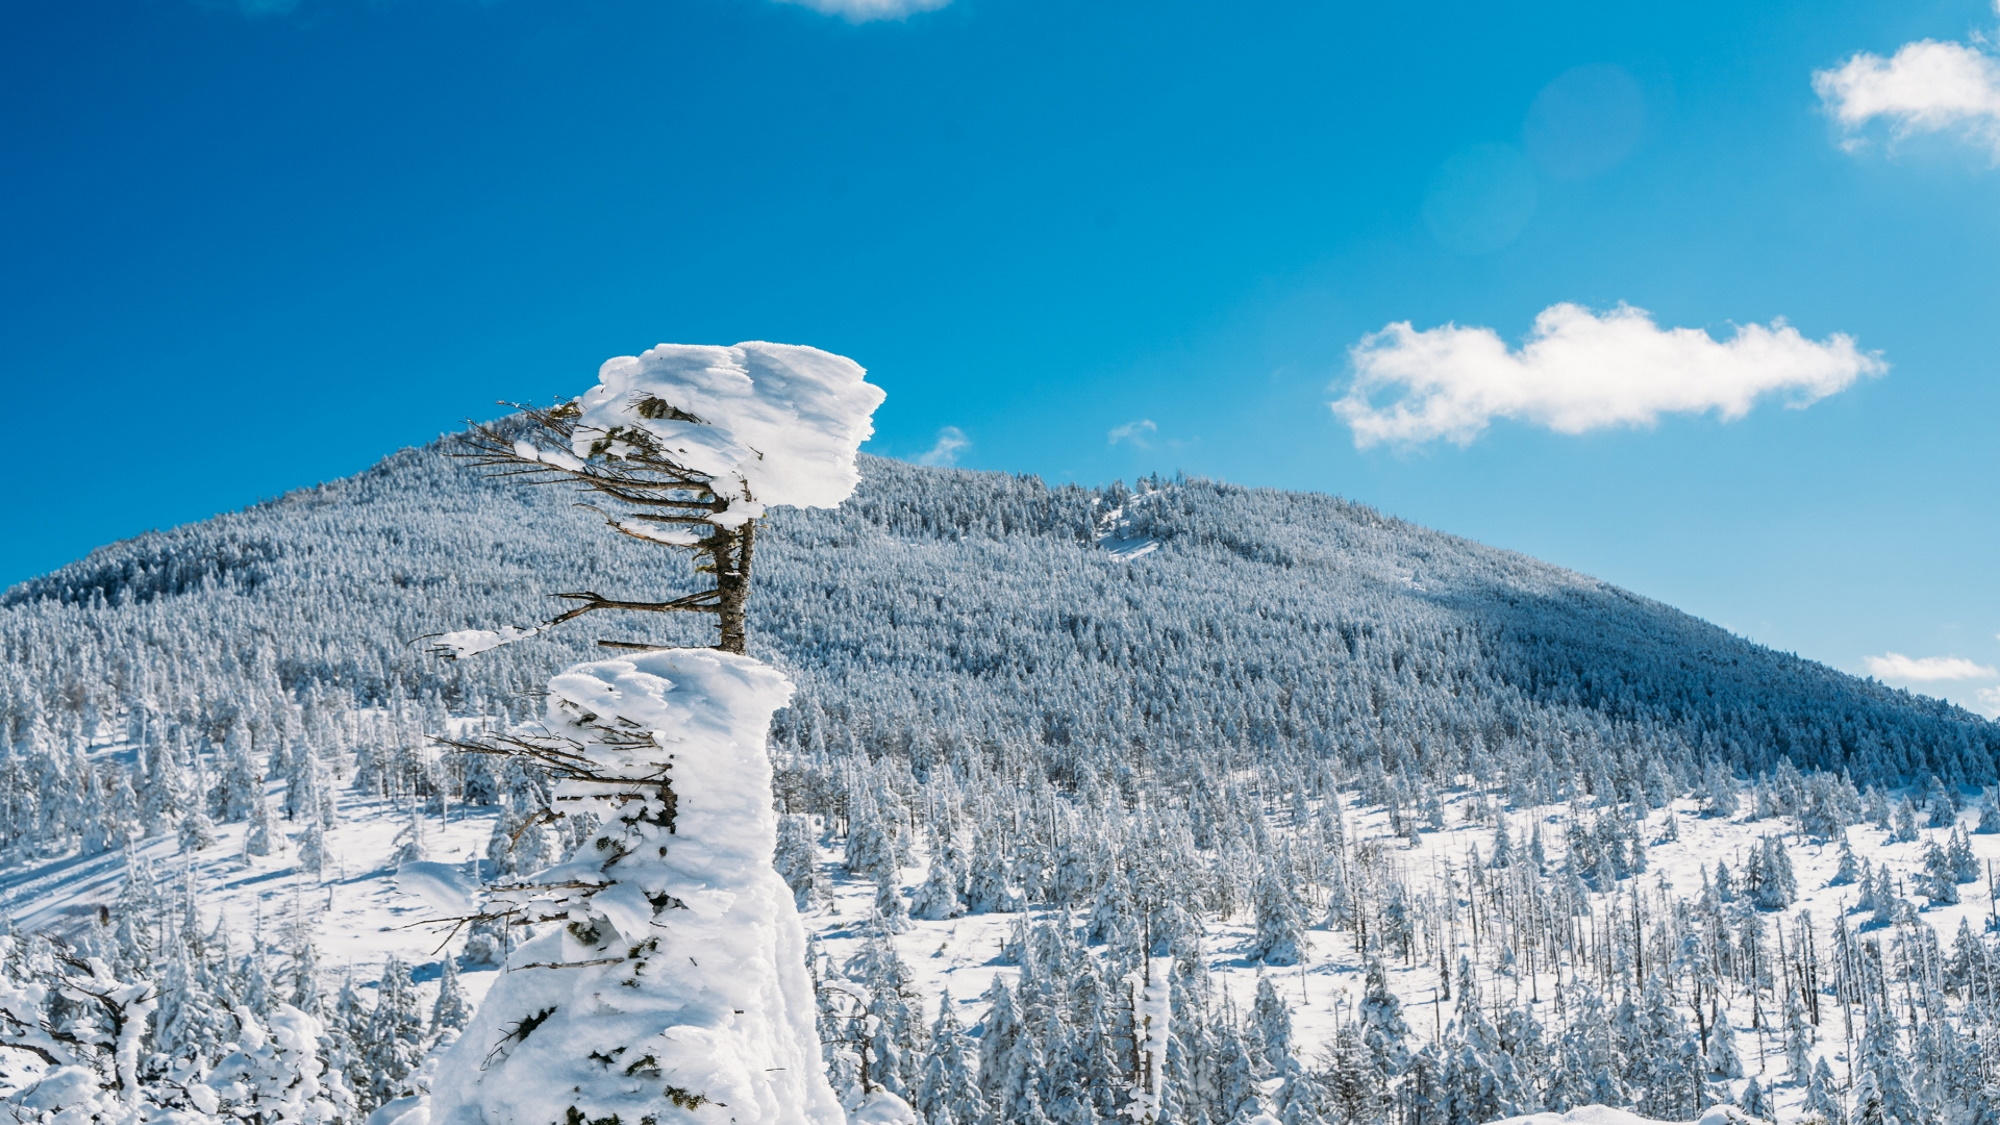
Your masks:
[{"label": "snow-covered forested mountain with the tree-dotted snowy flats at its foot", "polygon": [[[696,625],[412,643],[684,581],[434,446],[14,587],[10,979],[62,973],[50,933],[154,981],[162,1101],[286,1003],[324,1025],[338,1113],[424,1089],[508,935],[406,927],[582,835],[534,821],[542,779],[426,735],[528,715],[600,637]],[[800,685],[778,863],[828,1063],[932,1125],[1110,1119],[1148,963],[1188,1125],[1994,1105],[2000,727],[1964,711],[1204,480],[866,460],[844,508],[768,520],[752,611]],[[46,1069],[0,1051],[0,1089]]]}]

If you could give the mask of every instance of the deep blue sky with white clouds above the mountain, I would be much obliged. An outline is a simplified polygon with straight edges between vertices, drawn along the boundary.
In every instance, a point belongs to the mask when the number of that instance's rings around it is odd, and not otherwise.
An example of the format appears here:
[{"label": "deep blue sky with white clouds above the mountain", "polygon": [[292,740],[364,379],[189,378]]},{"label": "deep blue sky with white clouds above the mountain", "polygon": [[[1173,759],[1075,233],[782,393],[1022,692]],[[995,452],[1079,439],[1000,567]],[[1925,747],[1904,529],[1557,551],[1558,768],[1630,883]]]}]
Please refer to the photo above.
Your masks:
[{"label": "deep blue sky with white clouds above the mountain", "polygon": [[1992,8],[840,2],[8,4],[0,581],[770,338],[2000,711]]}]

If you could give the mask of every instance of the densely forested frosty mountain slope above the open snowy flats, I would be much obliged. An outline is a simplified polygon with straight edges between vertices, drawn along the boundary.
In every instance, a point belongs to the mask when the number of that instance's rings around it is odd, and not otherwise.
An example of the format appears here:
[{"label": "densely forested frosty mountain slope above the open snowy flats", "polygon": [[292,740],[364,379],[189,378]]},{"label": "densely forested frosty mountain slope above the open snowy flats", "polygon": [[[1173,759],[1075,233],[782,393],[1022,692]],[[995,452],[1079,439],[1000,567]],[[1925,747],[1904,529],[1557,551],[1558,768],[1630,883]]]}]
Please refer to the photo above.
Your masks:
[{"label": "densely forested frosty mountain slope above the open snowy flats", "polygon": [[[0,737],[56,751],[118,723],[220,745],[306,701],[494,713],[594,637],[690,639],[642,617],[462,665],[410,645],[536,621],[558,591],[684,583],[596,522],[422,448],[100,548],[0,599]],[[776,514],[758,558],[754,645],[802,681],[782,739],[808,747],[970,739],[1054,775],[1326,761],[1524,799],[1786,757],[1858,785],[1984,783],[2000,755],[2000,727],[1944,703],[1320,494],[868,460],[844,508]]]}]

